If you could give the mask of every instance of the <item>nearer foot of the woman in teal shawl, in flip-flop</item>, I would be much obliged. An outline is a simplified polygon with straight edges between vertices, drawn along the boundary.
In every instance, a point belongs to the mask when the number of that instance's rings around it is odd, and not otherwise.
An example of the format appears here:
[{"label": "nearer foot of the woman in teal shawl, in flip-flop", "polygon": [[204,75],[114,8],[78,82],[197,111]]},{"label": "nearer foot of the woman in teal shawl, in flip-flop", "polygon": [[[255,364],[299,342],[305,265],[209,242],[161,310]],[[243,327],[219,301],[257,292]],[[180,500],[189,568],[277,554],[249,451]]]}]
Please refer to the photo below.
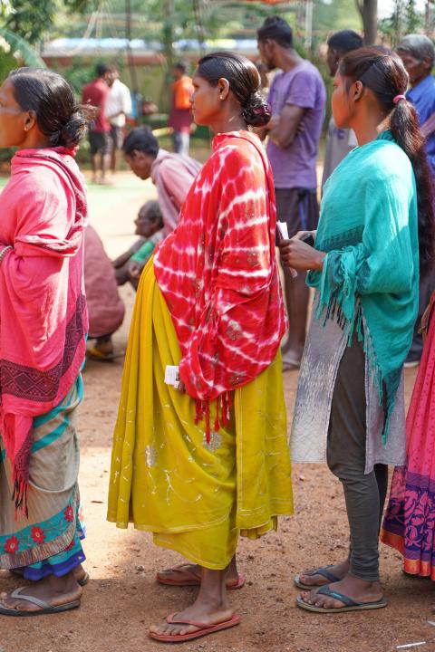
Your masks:
[{"label": "nearer foot of the woman in teal shawl, in flip-flop", "polygon": [[[337,593],[343,593],[346,598],[351,598],[355,602],[377,602],[383,597],[382,587],[379,581],[369,582],[360,580],[349,574],[343,580],[329,584],[329,588]],[[322,595],[315,590],[304,591],[301,593],[301,598],[307,604],[314,605],[314,607],[321,607],[322,609],[340,609],[340,607],[343,607],[341,600]]]}]

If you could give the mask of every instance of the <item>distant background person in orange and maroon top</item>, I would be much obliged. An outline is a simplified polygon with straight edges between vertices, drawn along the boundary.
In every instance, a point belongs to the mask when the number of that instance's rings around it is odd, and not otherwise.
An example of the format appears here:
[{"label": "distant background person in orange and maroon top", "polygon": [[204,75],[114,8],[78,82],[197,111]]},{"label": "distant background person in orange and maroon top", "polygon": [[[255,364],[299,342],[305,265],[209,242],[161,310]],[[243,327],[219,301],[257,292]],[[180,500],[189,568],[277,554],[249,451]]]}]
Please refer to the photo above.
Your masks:
[{"label": "distant background person in orange and maroon top", "polygon": [[174,151],[189,156],[190,127],[192,124],[192,80],[186,74],[186,63],[176,63],[172,69],[174,82],[170,86],[171,106],[168,126],[174,129],[172,139]]}]

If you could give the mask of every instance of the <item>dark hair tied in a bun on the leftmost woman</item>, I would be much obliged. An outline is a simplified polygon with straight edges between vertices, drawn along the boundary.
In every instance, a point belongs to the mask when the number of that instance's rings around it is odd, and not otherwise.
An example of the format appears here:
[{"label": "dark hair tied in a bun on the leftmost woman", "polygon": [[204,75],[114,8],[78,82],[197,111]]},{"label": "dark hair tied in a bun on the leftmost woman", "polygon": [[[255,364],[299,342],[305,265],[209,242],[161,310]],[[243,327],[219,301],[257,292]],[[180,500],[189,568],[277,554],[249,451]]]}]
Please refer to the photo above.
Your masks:
[{"label": "dark hair tied in a bun on the leftmost woman", "polygon": [[73,89],[57,72],[17,68],[9,73],[9,79],[14,85],[14,99],[22,110],[34,112],[51,147],[78,145],[98,114],[90,105],[75,103]]}]

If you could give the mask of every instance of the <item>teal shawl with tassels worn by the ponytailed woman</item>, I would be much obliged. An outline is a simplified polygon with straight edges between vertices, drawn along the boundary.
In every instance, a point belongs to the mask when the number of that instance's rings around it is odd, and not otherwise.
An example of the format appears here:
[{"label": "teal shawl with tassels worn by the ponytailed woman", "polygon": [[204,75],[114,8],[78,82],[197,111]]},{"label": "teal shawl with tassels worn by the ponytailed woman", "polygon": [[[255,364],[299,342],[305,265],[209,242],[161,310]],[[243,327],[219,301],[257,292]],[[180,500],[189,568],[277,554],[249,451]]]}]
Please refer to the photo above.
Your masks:
[{"label": "teal shawl with tassels worn by the ponytailed woman", "polygon": [[328,179],[315,239],[327,253],[324,269],[307,276],[318,290],[314,316],[339,321],[349,343],[356,325],[364,340],[384,409],[384,443],[418,312],[417,215],[411,161],[383,131]]}]

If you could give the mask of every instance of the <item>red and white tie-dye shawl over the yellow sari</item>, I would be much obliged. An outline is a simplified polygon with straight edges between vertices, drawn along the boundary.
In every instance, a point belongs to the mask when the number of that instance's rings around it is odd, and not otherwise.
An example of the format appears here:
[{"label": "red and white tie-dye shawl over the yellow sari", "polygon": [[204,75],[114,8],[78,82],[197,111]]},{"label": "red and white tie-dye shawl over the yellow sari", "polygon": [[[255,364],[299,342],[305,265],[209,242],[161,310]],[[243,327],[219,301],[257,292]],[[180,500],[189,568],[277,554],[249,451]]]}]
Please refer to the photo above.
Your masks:
[{"label": "red and white tie-dye shawl over the yellow sari", "polygon": [[229,419],[230,391],[275,359],[286,329],[275,260],[275,190],[260,140],[219,134],[160,245],[154,270],[182,359],[180,377],[197,418],[216,399],[215,430]]}]

